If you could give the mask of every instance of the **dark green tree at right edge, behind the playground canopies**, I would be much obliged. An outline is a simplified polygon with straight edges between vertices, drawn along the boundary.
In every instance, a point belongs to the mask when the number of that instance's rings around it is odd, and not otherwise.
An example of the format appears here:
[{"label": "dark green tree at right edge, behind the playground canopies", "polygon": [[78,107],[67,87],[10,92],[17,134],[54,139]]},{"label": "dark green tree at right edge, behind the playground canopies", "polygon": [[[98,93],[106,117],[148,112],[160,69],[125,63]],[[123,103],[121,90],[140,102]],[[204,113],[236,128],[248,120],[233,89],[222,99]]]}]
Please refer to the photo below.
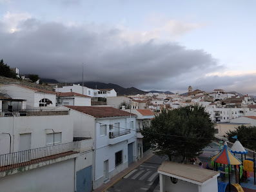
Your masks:
[{"label": "dark green tree at right edge, behind the playground canopies", "polygon": [[237,139],[239,139],[242,146],[254,151],[256,150],[256,126],[241,125],[226,134],[228,135],[228,140],[231,142],[235,142],[235,139],[232,139],[232,137],[237,135]]}]

